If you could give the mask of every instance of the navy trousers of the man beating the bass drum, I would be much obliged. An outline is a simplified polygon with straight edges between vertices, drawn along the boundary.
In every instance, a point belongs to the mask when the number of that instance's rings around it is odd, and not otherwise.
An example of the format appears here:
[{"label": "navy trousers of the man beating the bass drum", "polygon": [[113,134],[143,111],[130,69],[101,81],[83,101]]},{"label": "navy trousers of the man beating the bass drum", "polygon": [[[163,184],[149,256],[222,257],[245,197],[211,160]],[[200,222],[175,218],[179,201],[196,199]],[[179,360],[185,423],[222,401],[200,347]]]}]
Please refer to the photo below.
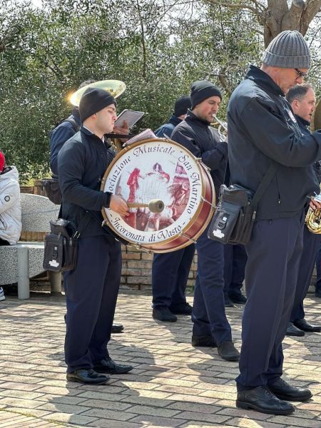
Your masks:
[{"label": "navy trousers of the man beating the bass drum", "polygon": [[108,357],[107,343],[121,280],[121,245],[111,236],[80,238],[75,270],[66,272],[67,372]]}]

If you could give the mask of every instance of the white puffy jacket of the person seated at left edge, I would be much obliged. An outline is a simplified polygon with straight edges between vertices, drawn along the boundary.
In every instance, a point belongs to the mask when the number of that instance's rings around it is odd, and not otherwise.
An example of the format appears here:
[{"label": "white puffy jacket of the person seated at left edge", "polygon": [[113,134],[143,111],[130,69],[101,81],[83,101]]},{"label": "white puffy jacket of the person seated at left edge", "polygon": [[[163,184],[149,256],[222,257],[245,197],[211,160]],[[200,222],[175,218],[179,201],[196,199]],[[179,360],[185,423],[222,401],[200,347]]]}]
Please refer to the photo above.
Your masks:
[{"label": "white puffy jacket of the person seated at left edge", "polygon": [[15,166],[0,174],[0,238],[11,245],[21,235],[19,175]]}]

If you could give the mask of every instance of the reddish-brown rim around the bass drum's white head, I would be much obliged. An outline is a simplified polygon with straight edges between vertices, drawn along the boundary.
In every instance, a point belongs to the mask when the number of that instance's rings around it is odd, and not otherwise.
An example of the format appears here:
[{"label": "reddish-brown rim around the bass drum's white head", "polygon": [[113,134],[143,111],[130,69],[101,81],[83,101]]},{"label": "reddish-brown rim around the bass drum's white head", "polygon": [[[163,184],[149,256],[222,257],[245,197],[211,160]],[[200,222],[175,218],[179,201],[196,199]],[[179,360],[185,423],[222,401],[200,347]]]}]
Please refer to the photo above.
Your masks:
[{"label": "reddish-brown rim around the bass drum's white head", "polygon": [[[126,153],[126,151],[129,151],[129,149],[135,148],[136,146],[140,146],[143,143],[153,143],[153,142],[156,142],[156,141],[161,141],[163,143],[164,142],[165,143],[173,143],[175,146],[178,146],[179,148],[182,148],[183,151],[187,151],[190,154],[190,156],[192,156],[192,158],[195,161],[196,165],[198,165],[200,176],[203,178],[203,175],[205,174],[205,175],[208,175],[208,177],[210,178],[210,180],[208,180],[208,181],[210,183],[210,187],[211,187],[211,190],[212,190],[212,200],[210,200],[209,202],[212,205],[214,205],[215,204],[215,187],[214,187],[214,184],[213,184],[213,180],[210,177],[210,173],[208,173],[208,167],[200,160],[200,158],[196,158],[193,155],[193,153],[191,153],[188,150],[188,148],[185,148],[184,146],[182,146],[181,144],[177,143],[176,141],[170,140],[170,138],[144,138],[143,140],[136,141],[136,143],[130,144],[129,146],[125,146],[123,148],[123,150],[121,150],[119,153],[116,153],[115,158],[113,158],[113,161],[111,161],[111,163],[108,165],[108,167],[106,169],[106,172],[104,173],[103,178],[101,180],[101,191],[104,190],[104,186],[105,186],[105,183],[106,183],[106,178],[108,177],[108,173],[110,173],[111,168],[113,168],[113,165],[118,161],[118,159],[120,159]],[[203,167],[202,167],[202,165],[203,165]],[[202,210],[203,205],[205,203],[205,201],[203,200],[204,195],[205,195],[205,183],[203,182],[203,179],[201,181],[202,181],[202,192],[201,192],[201,195],[200,195],[200,204],[198,205],[198,208],[196,209],[195,214],[193,215],[193,218],[191,218],[190,222],[188,223],[188,225],[186,225],[186,227],[183,228],[183,230],[180,231],[180,234],[174,235],[174,238],[168,238],[168,239],[163,240],[161,243],[159,243],[159,245],[165,245],[167,243],[170,243],[171,241],[174,241],[177,238],[180,238],[180,236],[184,235],[184,233],[191,227],[191,225],[193,225],[193,223],[195,223],[195,220],[198,218],[198,215],[200,215],[200,211]],[[106,209],[108,209],[108,208],[106,208]],[[210,211],[212,211],[212,215],[213,215],[214,208],[213,207],[210,208]],[[106,211],[105,211],[105,207],[103,207],[101,209],[101,213],[103,215],[103,219],[106,220],[106,223],[107,223],[108,227],[111,228],[111,230],[113,230],[114,233],[116,233],[115,228],[113,228],[113,226],[111,225],[111,222],[108,220],[108,217],[107,217],[107,214],[106,214]],[[204,222],[204,225],[200,228],[200,230],[198,230],[198,233],[196,233],[195,236],[193,236],[193,238],[185,238],[187,240],[187,245],[190,245],[190,244],[188,244],[188,242],[190,242],[191,240],[196,240],[204,232],[205,228],[207,228],[208,223],[210,222],[210,218],[212,218],[212,215],[208,215],[209,220],[208,220],[208,218],[206,218],[206,220]],[[128,243],[131,244],[131,245],[135,245],[138,248],[146,248],[146,250],[148,250],[148,244],[141,245],[140,243],[137,243],[137,242],[135,242],[135,241],[133,241],[131,239],[123,237],[122,235],[120,235],[120,238],[122,238],[124,240],[127,240]],[[156,243],[156,245],[157,245],[157,243]],[[175,250],[180,250],[181,248],[185,248],[185,246],[187,246],[187,245],[179,246],[178,248],[175,248]],[[170,251],[175,251],[175,250],[164,250],[164,251],[162,251],[162,253],[165,253],[165,252],[169,253]],[[156,250],[151,250],[150,249],[150,251],[153,251],[154,253],[156,253]]]}]

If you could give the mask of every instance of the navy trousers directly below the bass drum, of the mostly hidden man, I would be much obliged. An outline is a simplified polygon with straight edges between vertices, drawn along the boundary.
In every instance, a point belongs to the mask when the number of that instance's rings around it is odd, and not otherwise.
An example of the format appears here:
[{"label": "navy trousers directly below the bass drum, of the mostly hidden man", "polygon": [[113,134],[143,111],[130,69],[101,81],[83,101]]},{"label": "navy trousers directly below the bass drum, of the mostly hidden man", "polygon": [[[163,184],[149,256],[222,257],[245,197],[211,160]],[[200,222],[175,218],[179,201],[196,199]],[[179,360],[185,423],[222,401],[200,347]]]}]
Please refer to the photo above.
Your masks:
[{"label": "navy trousers directly below the bass drum, of the mostly hidden man", "polygon": [[186,303],[185,289],[194,253],[194,244],[170,253],[154,253],[153,307],[175,307]]}]

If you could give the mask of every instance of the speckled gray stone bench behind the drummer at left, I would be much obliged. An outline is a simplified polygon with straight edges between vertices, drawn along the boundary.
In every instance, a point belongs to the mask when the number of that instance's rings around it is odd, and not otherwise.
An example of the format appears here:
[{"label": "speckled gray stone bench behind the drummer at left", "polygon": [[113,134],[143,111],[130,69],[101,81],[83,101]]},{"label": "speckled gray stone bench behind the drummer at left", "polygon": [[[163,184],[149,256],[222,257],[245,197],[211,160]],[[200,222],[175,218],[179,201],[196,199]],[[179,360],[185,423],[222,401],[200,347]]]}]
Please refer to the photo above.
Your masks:
[{"label": "speckled gray stone bench behind the drummer at left", "polygon": [[[40,195],[21,193],[22,232],[50,232],[49,220],[58,218],[59,206]],[[18,298],[29,299],[29,278],[44,272],[44,242],[19,241],[0,246],[0,286],[18,282]],[[61,272],[50,272],[51,292],[61,292]]]}]

